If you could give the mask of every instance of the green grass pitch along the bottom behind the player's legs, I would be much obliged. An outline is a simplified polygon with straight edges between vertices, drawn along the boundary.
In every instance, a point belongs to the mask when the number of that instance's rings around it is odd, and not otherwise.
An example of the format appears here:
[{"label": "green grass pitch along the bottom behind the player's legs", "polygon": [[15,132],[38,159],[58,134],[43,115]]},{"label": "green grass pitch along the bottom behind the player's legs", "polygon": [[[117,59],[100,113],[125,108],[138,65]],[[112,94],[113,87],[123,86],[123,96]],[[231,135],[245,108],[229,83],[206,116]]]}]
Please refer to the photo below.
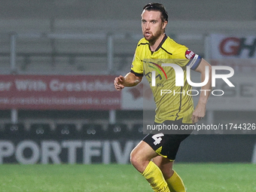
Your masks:
[{"label": "green grass pitch along the bottom behind the player's legs", "polygon": [[[176,163],[187,192],[256,191],[256,165]],[[152,192],[131,165],[0,165],[0,191]]]}]

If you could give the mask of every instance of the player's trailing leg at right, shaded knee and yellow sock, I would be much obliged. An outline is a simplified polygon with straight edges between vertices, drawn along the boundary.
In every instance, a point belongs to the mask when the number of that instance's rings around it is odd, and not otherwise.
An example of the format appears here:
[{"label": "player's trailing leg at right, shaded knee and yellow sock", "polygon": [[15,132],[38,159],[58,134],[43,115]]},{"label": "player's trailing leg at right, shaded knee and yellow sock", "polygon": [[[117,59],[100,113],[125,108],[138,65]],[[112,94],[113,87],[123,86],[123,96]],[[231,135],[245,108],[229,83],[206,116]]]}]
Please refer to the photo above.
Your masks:
[{"label": "player's trailing leg at right, shaded knee and yellow sock", "polygon": [[153,159],[154,163],[160,168],[163,172],[163,177],[166,179],[169,190],[171,192],[185,192],[184,183],[177,174],[172,169],[173,161],[170,161],[167,158],[157,156]]}]

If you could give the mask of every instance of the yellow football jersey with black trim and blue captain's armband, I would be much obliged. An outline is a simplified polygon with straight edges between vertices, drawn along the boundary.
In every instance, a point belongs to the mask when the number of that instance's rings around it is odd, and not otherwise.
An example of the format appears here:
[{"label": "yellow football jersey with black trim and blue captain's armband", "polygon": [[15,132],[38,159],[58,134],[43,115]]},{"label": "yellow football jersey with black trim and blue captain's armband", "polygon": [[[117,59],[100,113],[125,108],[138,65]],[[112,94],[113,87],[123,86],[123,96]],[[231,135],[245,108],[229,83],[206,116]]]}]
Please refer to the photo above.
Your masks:
[{"label": "yellow football jersey with black trim and blue captain's armband", "polygon": [[[176,43],[167,35],[163,38],[157,50],[151,51],[148,41],[142,38],[133,58],[131,72],[137,76],[144,75],[149,84],[156,103],[155,122],[165,120],[179,120],[183,123],[192,123],[194,102],[189,90],[192,87],[187,83],[186,66],[197,69],[201,57],[186,46]],[[175,70],[163,63],[173,63],[183,69],[184,86],[175,85]],[[155,72],[155,85],[152,86],[152,72]]]}]

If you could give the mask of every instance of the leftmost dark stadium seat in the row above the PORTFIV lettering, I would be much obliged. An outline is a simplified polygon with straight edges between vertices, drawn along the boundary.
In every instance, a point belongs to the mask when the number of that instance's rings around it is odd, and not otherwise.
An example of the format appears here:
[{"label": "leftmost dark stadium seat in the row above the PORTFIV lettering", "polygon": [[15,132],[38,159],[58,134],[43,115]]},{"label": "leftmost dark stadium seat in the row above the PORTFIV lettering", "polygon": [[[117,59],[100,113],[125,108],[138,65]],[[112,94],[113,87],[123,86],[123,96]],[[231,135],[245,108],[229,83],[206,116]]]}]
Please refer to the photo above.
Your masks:
[{"label": "leftmost dark stadium seat in the row above the PORTFIV lettering", "polygon": [[5,139],[23,139],[26,130],[22,123],[6,123],[4,127]]}]

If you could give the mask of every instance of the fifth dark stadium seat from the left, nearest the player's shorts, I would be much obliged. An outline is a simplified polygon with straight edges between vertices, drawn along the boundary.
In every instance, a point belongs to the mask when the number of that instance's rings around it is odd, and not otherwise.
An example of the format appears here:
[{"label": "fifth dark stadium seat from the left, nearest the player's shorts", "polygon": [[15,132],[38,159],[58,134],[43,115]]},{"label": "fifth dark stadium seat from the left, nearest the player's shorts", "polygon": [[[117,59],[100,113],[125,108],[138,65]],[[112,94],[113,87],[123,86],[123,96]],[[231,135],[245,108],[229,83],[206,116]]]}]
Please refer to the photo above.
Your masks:
[{"label": "fifth dark stadium seat from the left, nearest the player's shorts", "polygon": [[129,130],[124,123],[108,124],[108,139],[129,139]]}]

